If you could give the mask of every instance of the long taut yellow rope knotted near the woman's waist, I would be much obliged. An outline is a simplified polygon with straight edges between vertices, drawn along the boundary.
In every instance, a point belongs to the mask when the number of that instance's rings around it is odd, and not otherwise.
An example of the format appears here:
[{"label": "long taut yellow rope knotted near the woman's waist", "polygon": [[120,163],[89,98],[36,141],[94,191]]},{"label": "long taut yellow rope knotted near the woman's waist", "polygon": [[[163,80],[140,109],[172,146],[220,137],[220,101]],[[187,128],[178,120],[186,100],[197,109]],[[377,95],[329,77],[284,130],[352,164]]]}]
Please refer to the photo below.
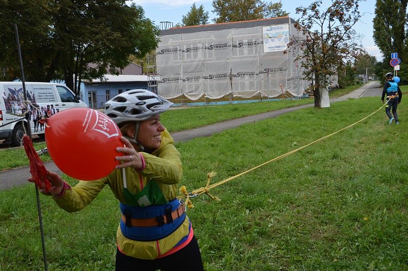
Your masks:
[{"label": "long taut yellow rope knotted near the woman's waist", "polygon": [[[207,175],[207,185],[206,185],[206,187],[200,187],[200,188],[198,188],[198,189],[195,189],[195,190],[192,191],[191,193],[188,193],[188,192],[187,192],[187,189],[186,189],[186,186],[183,185],[182,188],[180,188],[180,192],[181,192],[183,195],[177,197],[177,199],[187,199],[187,200],[186,200],[186,205],[187,205],[189,208],[193,208],[193,207],[194,207],[194,206],[190,206],[190,205],[189,205],[189,203],[191,204],[191,201],[190,201],[189,198],[197,197],[197,196],[200,196],[200,195],[202,195],[202,194],[207,194],[207,195],[208,195],[210,198],[212,198],[213,200],[220,200],[219,198],[210,195],[209,192],[210,192],[210,190],[211,190],[212,188],[215,188],[215,187],[217,187],[217,186],[219,186],[219,185],[221,185],[221,184],[224,184],[224,183],[226,183],[226,182],[228,182],[228,181],[231,181],[231,180],[233,180],[233,179],[235,179],[235,178],[238,178],[238,177],[240,177],[240,176],[242,176],[242,175],[244,175],[244,174],[246,174],[246,173],[249,173],[249,172],[251,172],[251,171],[254,171],[254,170],[256,170],[256,169],[259,169],[260,167],[263,167],[263,166],[265,166],[265,165],[268,165],[268,164],[270,164],[271,162],[274,162],[274,161],[277,161],[277,160],[279,160],[279,159],[282,159],[282,158],[284,158],[284,157],[286,157],[286,156],[289,156],[289,155],[291,155],[292,153],[295,153],[295,152],[297,152],[297,151],[300,151],[301,149],[304,149],[304,148],[306,148],[306,147],[309,147],[309,146],[311,146],[311,145],[313,145],[313,144],[315,144],[315,143],[317,143],[317,142],[319,142],[319,141],[322,141],[322,140],[324,140],[324,139],[326,139],[326,138],[329,138],[329,137],[331,137],[331,136],[334,136],[334,134],[339,133],[339,132],[341,132],[341,131],[343,131],[343,130],[345,130],[345,129],[348,129],[348,128],[354,126],[354,125],[357,124],[357,123],[360,123],[360,122],[362,122],[362,121],[368,119],[369,117],[371,117],[372,115],[374,115],[375,113],[377,113],[377,112],[378,112],[383,106],[385,106],[386,104],[387,104],[387,103],[384,103],[384,104],[383,104],[381,107],[379,107],[379,109],[377,109],[375,112],[373,112],[373,113],[371,113],[370,115],[368,115],[367,117],[365,117],[365,118],[359,120],[358,122],[355,122],[355,123],[353,123],[353,124],[351,124],[351,125],[348,125],[347,127],[344,127],[344,128],[342,128],[342,129],[340,129],[340,130],[338,130],[338,131],[336,131],[336,132],[330,133],[330,134],[328,134],[328,135],[325,136],[325,137],[322,137],[322,138],[320,138],[320,139],[318,139],[318,140],[316,140],[316,141],[313,141],[312,143],[309,143],[308,145],[304,145],[303,147],[297,148],[296,150],[287,152],[287,153],[285,153],[285,154],[283,154],[283,155],[281,155],[281,156],[278,156],[278,157],[276,157],[276,158],[273,158],[272,160],[269,160],[269,161],[267,161],[267,162],[264,162],[264,164],[261,164],[261,165],[259,165],[259,166],[256,166],[256,167],[252,168],[252,169],[249,169],[249,170],[247,170],[247,171],[245,171],[245,172],[242,172],[242,173],[240,173],[240,174],[237,174],[237,175],[235,175],[235,176],[232,176],[232,177],[230,177],[230,178],[224,179],[224,180],[222,180],[222,181],[219,181],[219,182],[217,182],[217,183],[214,183],[214,184],[211,184],[211,185],[210,185],[211,178],[216,175],[215,172],[211,172],[211,173],[209,173],[209,174]],[[192,205],[192,204],[191,204],[191,205]]]}]

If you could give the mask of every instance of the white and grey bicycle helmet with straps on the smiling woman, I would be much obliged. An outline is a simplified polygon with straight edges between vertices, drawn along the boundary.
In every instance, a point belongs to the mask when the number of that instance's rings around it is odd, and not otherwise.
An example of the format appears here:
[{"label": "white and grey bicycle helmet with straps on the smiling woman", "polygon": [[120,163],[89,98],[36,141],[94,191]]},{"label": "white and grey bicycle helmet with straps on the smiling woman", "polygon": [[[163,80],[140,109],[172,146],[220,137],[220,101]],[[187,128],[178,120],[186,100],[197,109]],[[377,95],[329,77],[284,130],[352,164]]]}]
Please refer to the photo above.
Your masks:
[{"label": "white and grey bicycle helmet with straps on the smiling woman", "polygon": [[145,148],[137,142],[139,123],[151,116],[166,112],[171,105],[173,105],[172,102],[149,90],[135,89],[120,93],[107,101],[105,103],[105,115],[110,117],[119,127],[121,127],[120,124],[134,122],[134,137],[124,137],[137,144],[143,151]]}]

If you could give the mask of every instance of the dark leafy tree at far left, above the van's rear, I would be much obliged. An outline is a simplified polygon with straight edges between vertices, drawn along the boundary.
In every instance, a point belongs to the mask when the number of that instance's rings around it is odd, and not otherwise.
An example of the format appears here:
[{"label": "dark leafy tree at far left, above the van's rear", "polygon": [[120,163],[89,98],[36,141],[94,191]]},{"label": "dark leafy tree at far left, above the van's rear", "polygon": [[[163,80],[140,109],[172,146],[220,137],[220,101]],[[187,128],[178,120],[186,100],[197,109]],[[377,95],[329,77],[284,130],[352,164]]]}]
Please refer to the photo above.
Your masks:
[{"label": "dark leafy tree at far left, above the van's rear", "polygon": [[29,80],[49,82],[56,67],[50,65],[55,57],[52,36],[50,0],[0,1],[0,67],[2,80],[21,78],[14,24],[17,25],[23,58],[24,75]]}]

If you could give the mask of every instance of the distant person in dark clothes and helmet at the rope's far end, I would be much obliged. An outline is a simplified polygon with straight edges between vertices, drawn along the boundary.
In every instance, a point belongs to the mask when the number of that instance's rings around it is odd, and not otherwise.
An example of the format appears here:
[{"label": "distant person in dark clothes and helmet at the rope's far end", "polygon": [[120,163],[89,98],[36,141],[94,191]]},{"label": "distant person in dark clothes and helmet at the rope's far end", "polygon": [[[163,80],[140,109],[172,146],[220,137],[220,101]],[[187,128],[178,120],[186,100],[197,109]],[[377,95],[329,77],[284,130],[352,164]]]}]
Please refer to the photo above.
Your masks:
[{"label": "distant person in dark clothes and helmet at the rope's far end", "polygon": [[[393,120],[395,124],[398,122],[397,107],[401,103],[402,92],[398,87],[398,84],[393,80],[394,74],[389,72],[386,74],[386,83],[384,83],[384,89],[382,90],[381,101],[384,103],[384,97],[387,95],[387,105],[386,105],[386,114],[390,119],[388,124],[390,125]],[[391,115],[392,109],[392,115]]]}]

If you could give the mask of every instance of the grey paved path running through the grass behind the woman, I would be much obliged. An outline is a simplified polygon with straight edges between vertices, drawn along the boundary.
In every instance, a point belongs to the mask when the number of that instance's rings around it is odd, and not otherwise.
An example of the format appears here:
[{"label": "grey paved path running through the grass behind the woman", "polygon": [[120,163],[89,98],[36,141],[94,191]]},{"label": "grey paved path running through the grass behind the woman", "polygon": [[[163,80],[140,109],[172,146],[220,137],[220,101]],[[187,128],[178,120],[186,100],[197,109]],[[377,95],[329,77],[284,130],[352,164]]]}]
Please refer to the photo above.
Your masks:
[{"label": "grey paved path running through the grass behind the woman", "polygon": [[[381,96],[381,93],[382,93],[382,89],[380,88],[380,83],[370,82],[364,85],[363,87],[343,97],[336,98],[336,99],[330,99],[330,102],[342,101],[342,100],[347,100],[350,98],[356,99],[356,98],[366,97],[366,96]],[[208,125],[205,127],[200,127],[197,129],[175,132],[175,133],[172,133],[171,136],[173,137],[175,142],[185,142],[185,141],[189,141],[189,140],[192,140],[198,137],[208,137],[214,133],[221,132],[226,129],[238,127],[245,123],[252,123],[252,122],[256,122],[256,121],[260,121],[264,119],[275,118],[284,113],[292,112],[298,109],[303,109],[303,108],[311,107],[311,106],[313,106],[313,103],[295,106],[295,107],[291,107],[288,109],[277,110],[273,112],[267,112],[267,113],[263,113],[259,115],[244,117],[240,119],[224,121],[224,122]],[[62,174],[61,170],[58,169],[57,166],[52,161],[46,162],[45,167],[47,168],[48,171],[53,171],[53,172],[57,172],[58,174]],[[9,189],[13,186],[27,184],[28,183],[27,180],[29,177],[31,177],[29,167],[22,167],[22,168],[2,171],[0,172],[0,189]]]}]

